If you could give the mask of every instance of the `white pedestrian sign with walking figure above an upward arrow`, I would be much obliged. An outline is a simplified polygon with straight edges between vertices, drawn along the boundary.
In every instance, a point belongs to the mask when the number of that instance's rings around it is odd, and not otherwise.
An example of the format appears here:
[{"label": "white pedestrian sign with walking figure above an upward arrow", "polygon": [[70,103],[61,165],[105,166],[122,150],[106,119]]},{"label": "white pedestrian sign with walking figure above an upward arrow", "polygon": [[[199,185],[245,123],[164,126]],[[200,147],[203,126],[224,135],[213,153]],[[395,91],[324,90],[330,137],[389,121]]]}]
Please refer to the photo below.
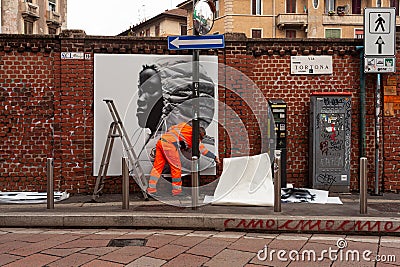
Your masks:
[{"label": "white pedestrian sign with walking figure above an upward arrow", "polygon": [[365,56],[394,56],[396,50],[396,9],[365,8]]}]

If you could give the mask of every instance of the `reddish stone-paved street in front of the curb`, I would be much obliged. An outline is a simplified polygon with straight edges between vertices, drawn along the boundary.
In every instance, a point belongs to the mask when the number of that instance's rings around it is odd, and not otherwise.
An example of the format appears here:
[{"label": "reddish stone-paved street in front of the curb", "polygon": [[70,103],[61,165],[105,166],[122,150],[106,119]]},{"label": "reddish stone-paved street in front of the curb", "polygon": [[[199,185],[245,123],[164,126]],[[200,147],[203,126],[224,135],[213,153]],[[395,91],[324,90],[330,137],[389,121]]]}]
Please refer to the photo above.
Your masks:
[{"label": "reddish stone-paved street in front of the curb", "polygon": [[400,266],[400,238],[160,229],[0,228],[0,266],[388,267]]}]

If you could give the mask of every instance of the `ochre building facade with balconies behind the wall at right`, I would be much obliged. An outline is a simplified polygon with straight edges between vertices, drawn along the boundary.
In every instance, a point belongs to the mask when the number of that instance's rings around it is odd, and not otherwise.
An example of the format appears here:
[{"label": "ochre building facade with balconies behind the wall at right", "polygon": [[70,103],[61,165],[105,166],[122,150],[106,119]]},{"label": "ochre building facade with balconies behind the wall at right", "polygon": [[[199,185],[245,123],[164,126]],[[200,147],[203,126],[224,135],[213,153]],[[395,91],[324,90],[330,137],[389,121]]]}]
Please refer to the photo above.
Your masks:
[{"label": "ochre building facade with balconies behind the wall at right", "polygon": [[[399,0],[214,0],[213,33],[237,32],[250,38],[363,38],[365,7],[396,7]],[[193,1],[188,10],[192,27]],[[400,25],[399,17],[396,24]]]}]

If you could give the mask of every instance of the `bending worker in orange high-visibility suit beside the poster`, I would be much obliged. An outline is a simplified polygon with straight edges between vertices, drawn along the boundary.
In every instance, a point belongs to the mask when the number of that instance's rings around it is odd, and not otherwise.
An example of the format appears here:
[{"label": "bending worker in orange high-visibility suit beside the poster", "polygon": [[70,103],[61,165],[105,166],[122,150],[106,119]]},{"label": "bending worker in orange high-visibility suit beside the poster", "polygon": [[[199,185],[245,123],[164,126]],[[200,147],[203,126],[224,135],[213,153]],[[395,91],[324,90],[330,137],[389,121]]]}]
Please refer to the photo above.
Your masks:
[{"label": "bending worker in orange high-visibility suit beside the poster", "polygon": [[[164,169],[165,163],[168,162],[171,169],[172,177],[172,195],[177,196],[182,193],[182,166],[179,157],[179,148],[188,149],[192,147],[192,126],[188,123],[180,123],[172,126],[163,134],[156,144],[156,157],[153,163],[153,169],[150,172],[149,187],[147,193],[155,195],[157,192],[157,182]],[[199,128],[200,153],[206,157],[212,158],[215,162],[220,163],[218,156],[207,150],[201,143],[206,131],[203,127]]]}]

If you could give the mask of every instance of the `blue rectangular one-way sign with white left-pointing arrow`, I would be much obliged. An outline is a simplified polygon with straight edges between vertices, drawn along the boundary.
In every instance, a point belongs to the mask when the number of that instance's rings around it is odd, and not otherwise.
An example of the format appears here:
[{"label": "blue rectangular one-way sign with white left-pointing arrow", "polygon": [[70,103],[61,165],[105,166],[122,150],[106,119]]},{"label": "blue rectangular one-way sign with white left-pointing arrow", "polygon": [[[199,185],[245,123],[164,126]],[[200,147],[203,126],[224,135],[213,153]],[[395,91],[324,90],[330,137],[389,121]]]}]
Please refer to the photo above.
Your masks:
[{"label": "blue rectangular one-way sign with white left-pointing arrow", "polygon": [[225,48],[223,34],[168,36],[169,50]]}]

